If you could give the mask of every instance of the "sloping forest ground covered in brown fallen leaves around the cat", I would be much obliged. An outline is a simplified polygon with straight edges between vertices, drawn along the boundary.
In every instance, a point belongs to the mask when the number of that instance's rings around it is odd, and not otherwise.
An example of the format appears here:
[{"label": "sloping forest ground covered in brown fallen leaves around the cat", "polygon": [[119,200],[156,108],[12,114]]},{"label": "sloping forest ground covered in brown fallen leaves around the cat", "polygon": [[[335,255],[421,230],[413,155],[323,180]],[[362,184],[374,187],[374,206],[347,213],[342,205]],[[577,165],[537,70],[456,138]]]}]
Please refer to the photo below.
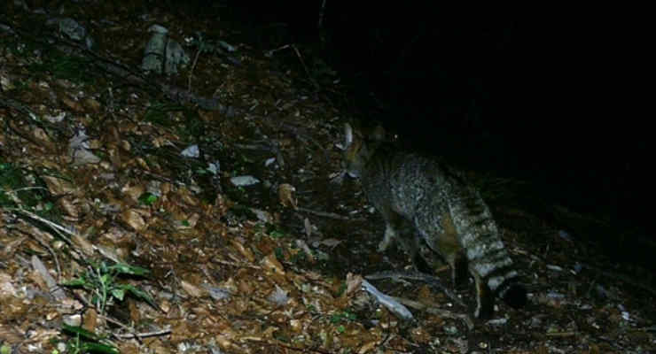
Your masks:
[{"label": "sloping forest ground covered in brown fallen leaves around the cat", "polygon": [[[45,26],[49,16],[16,6],[0,17],[4,348],[656,350],[654,291],[645,285],[652,275],[613,266],[592,245],[508,203],[510,192],[495,198],[494,183],[483,186],[528,284],[527,308],[499,304],[496,319],[469,328],[458,316],[471,314],[472,289],[457,292],[467,307],[425,282],[371,281],[416,302],[416,321],[397,319],[358,285],[363,275],[409,263],[398,252],[375,252],[379,216],[368,212],[355,181],[340,179],[337,144],[348,112],[304,89],[307,73],[281,69],[276,53],[254,50],[238,27],[144,4],[98,3],[71,4],[59,15],[85,19],[96,54]],[[212,28],[208,38],[236,50],[187,48],[194,64],[171,79],[134,80],[113,70],[122,63],[138,75],[154,19],[179,42]],[[171,87],[193,98],[171,95]],[[198,108],[199,97],[215,97],[221,107]],[[259,182],[239,185],[251,177]],[[116,262],[150,273],[111,268]],[[447,288],[448,273],[439,268]],[[74,279],[82,279],[77,287],[53,286]]]}]

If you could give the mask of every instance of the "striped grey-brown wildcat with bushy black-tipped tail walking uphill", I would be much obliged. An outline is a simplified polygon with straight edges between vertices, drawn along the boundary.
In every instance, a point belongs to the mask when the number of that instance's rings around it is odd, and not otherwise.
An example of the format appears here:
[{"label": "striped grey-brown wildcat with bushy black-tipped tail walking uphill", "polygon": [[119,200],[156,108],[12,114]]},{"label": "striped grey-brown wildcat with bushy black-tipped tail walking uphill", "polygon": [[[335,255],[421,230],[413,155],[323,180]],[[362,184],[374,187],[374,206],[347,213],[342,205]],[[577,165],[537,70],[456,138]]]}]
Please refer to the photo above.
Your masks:
[{"label": "striped grey-brown wildcat with bushy black-tipped tail walking uphill", "polygon": [[399,241],[419,270],[432,273],[418,252],[419,242],[425,241],[449,263],[455,283],[472,275],[477,318],[492,316],[495,296],[513,307],[525,304],[526,289],[518,283],[519,274],[479,192],[453,168],[383,143],[381,132],[363,142],[347,125],[344,152],[348,174],[360,177],[364,193],[386,221],[379,250]]}]

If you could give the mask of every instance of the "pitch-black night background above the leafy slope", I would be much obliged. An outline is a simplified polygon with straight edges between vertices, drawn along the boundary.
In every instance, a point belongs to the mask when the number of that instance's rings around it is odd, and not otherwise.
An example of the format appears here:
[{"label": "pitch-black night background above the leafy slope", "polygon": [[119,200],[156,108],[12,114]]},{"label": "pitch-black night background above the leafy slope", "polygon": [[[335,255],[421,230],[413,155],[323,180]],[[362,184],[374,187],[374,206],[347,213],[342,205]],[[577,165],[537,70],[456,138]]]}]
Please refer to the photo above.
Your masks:
[{"label": "pitch-black night background above the leafy slope", "polygon": [[639,9],[327,0],[318,27],[321,4],[228,1],[220,13],[262,50],[294,43],[323,58],[352,112],[414,149],[610,221],[585,237],[621,258],[640,252],[627,234],[653,241],[652,93],[641,89],[652,41]]}]

